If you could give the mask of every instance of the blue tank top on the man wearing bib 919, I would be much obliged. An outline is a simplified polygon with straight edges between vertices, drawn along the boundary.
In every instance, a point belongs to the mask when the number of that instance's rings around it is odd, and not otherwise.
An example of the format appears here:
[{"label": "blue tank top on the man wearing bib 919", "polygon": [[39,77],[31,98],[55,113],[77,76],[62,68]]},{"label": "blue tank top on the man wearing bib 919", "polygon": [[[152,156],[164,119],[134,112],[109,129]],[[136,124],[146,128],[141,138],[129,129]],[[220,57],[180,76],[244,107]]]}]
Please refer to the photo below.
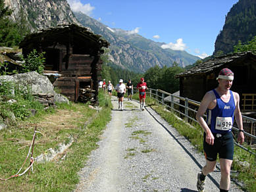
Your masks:
[{"label": "blue tank top on the man wearing bib 919", "polygon": [[[222,99],[220,99],[220,95],[218,95],[215,89],[213,89],[213,92],[215,93],[217,104],[216,104],[216,107],[213,108],[212,110],[207,109],[207,124],[211,129],[212,133],[231,132],[232,125],[234,123],[234,110],[236,109],[233,93],[232,91],[230,91],[230,100],[228,101],[228,103],[225,103],[224,101],[222,101]],[[230,123],[231,126],[228,126],[230,127],[230,129],[217,130],[216,129],[217,117],[231,117],[232,118],[232,122]]]}]

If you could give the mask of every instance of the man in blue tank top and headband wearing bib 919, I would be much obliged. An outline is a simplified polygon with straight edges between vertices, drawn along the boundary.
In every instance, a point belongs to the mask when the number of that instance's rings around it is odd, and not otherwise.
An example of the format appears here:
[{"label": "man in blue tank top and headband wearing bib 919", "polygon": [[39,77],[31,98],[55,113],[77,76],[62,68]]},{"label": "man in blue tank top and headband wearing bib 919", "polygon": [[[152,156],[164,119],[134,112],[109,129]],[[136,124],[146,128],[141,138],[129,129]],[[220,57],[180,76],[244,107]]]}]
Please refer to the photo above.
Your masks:
[{"label": "man in blue tank top and headband wearing bib 919", "polygon": [[[197,190],[205,190],[205,176],[213,172],[217,155],[220,160],[220,192],[230,187],[230,168],[233,161],[234,141],[231,133],[234,117],[238,124],[238,142],[244,141],[242,114],[239,108],[239,95],[230,91],[234,73],[223,68],[218,74],[218,87],[208,91],[197,111],[196,118],[204,130],[203,150],[206,165],[197,175]],[[207,112],[207,122],[203,114]]]}]

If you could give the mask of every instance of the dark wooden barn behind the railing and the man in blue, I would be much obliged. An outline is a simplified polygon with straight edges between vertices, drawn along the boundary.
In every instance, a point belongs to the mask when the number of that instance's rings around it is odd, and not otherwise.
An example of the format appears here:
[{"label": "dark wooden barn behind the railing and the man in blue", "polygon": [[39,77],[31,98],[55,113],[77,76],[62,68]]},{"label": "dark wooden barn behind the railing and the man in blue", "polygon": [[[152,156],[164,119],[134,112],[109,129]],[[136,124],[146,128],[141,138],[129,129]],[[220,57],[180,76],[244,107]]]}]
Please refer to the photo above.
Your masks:
[{"label": "dark wooden barn behind the railing and the man in blue", "polygon": [[240,95],[241,110],[256,111],[256,55],[251,52],[207,60],[178,74],[180,97],[201,101],[207,91],[217,87],[216,78],[222,68],[230,68],[234,72],[231,89]]}]

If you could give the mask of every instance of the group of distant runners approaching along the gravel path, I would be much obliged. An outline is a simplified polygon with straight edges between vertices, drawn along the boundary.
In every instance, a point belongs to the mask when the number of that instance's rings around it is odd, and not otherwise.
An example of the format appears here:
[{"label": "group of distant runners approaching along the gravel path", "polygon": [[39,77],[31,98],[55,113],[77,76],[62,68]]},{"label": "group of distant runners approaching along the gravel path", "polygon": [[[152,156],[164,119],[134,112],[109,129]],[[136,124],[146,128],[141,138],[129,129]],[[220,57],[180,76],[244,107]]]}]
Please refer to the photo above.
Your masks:
[{"label": "group of distant runners approaching along the gravel path", "polygon": [[[134,90],[134,85],[132,84],[132,80],[129,80],[128,83],[125,85],[123,83],[124,81],[122,79],[119,80],[119,83],[113,87],[113,84],[111,84],[111,81],[106,85],[105,80],[103,82],[99,82],[99,89],[103,89],[104,91],[107,90],[109,93],[109,96],[112,97],[113,90],[115,89],[117,92],[118,97],[118,110],[124,110],[124,94],[126,91],[128,91],[128,100],[132,101],[132,95]],[[146,89],[147,89],[147,83],[144,82],[144,78],[140,78],[140,82],[137,84],[136,87],[139,91],[139,97],[140,97],[140,109],[145,109],[145,97],[146,97]]]}]

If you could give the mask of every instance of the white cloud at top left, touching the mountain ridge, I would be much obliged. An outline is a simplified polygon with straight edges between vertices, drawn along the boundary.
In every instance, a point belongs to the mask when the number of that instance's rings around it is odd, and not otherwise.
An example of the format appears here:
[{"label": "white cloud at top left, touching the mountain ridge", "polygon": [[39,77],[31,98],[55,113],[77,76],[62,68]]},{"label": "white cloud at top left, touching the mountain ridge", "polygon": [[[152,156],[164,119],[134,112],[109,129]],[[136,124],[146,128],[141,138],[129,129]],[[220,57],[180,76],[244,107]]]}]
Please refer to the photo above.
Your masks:
[{"label": "white cloud at top left, touching the mountain ridge", "polygon": [[88,16],[90,16],[93,9],[95,9],[95,7],[92,7],[90,3],[83,5],[80,0],[67,0],[67,1],[72,11],[75,11],[75,12],[81,11],[82,13],[87,14]]}]

